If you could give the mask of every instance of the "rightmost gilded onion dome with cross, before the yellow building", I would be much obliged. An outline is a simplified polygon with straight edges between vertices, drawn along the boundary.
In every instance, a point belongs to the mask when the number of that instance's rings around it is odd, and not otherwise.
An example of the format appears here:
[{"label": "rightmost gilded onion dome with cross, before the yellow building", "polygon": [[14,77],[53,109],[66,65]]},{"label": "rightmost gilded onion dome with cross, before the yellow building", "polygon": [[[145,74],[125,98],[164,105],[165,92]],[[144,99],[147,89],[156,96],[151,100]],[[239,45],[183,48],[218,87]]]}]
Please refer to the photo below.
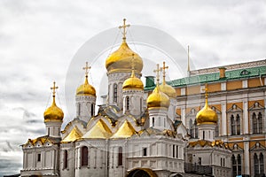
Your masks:
[{"label": "rightmost gilded onion dome with cross, before the yellow building", "polygon": [[200,124],[216,124],[218,121],[217,114],[214,110],[212,110],[207,105],[207,89],[206,90],[206,96],[205,96],[205,105],[200,110],[200,112],[197,113],[196,119],[198,125]]}]

